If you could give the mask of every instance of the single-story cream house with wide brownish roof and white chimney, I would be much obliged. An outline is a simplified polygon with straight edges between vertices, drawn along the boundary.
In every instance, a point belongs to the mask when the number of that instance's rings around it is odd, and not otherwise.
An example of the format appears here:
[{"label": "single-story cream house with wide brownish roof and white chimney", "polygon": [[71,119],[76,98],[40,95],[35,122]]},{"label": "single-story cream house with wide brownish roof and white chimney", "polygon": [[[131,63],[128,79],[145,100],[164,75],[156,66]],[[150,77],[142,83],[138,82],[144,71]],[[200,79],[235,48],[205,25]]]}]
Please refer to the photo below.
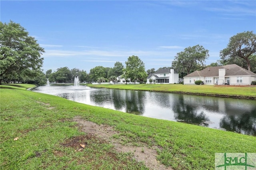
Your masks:
[{"label": "single-story cream house with wide brownish roof and white chimney", "polygon": [[202,80],[205,85],[250,85],[256,81],[256,74],[236,64],[207,67],[183,77],[184,85],[194,85]]}]

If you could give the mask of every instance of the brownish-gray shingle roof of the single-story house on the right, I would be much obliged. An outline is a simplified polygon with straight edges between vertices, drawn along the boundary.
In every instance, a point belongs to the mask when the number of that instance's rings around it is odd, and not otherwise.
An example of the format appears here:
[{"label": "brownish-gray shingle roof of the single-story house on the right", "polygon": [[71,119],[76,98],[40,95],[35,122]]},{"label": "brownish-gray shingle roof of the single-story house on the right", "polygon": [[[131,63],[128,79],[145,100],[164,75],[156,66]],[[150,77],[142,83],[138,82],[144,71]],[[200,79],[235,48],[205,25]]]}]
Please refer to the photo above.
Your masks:
[{"label": "brownish-gray shingle roof of the single-story house on the right", "polygon": [[237,75],[254,75],[252,71],[248,71],[236,64],[228,64],[216,67],[207,67],[201,71],[194,71],[184,77],[219,77],[219,69],[226,69],[225,76],[237,76]]}]

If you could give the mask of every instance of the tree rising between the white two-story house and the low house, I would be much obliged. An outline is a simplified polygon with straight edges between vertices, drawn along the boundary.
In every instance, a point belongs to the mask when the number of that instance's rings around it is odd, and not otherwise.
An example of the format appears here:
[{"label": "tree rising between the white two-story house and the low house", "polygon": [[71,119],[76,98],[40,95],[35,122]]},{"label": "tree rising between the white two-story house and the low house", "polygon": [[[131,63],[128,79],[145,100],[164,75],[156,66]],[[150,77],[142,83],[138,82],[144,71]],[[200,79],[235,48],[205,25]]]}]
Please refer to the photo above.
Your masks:
[{"label": "tree rising between the white two-story house and the low house", "polygon": [[203,66],[205,60],[209,57],[208,50],[202,45],[187,47],[184,51],[177,53],[172,61],[172,67],[179,73],[189,74],[199,66]]}]

